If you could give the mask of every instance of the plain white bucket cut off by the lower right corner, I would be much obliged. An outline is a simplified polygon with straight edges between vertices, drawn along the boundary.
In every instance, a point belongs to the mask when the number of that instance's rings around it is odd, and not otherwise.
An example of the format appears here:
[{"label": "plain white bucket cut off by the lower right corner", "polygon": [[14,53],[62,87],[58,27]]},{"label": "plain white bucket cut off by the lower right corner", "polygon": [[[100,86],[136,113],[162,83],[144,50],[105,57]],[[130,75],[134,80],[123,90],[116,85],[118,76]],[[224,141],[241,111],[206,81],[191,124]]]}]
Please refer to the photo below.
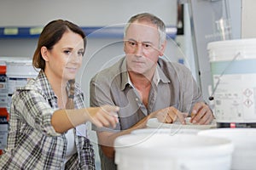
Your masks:
[{"label": "plain white bucket cut off by the lower right corner", "polygon": [[223,137],[234,144],[232,170],[254,170],[256,168],[256,129],[218,128],[198,133],[203,136]]}]

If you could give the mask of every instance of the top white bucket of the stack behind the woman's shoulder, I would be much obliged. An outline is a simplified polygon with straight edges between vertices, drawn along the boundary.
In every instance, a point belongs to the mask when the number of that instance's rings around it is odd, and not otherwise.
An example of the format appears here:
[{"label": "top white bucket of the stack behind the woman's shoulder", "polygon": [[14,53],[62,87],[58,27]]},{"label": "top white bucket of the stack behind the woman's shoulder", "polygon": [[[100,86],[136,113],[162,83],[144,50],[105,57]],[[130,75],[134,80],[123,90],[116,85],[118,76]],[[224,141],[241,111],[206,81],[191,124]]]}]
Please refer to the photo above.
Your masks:
[{"label": "top white bucket of the stack behind the woman's shoulder", "polygon": [[11,96],[16,88],[26,85],[31,78],[38,76],[38,71],[32,66],[32,59],[29,58],[13,58],[6,61],[6,76],[7,76],[7,93],[8,105],[10,107]]}]

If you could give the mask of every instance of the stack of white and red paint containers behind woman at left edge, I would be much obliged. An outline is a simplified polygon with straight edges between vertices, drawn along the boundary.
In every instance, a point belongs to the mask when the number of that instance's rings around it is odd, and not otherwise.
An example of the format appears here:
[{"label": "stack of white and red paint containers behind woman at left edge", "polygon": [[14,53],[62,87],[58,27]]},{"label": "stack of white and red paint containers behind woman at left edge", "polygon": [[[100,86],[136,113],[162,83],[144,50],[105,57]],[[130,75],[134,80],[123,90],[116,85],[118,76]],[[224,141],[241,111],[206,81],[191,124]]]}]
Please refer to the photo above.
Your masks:
[{"label": "stack of white and red paint containers behind woman at left edge", "polygon": [[12,94],[37,75],[38,71],[33,68],[30,58],[0,57],[0,155],[7,145]]}]

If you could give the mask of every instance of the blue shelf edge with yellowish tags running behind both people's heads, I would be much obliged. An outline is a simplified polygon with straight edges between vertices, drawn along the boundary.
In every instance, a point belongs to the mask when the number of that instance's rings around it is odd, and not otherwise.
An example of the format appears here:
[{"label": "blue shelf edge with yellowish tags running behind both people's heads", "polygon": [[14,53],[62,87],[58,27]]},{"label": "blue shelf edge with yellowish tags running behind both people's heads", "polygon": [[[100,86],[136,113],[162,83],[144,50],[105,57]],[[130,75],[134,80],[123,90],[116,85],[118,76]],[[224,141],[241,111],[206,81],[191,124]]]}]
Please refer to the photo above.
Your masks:
[{"label": "blue shelf edge with yellowish tags running behind both people's heads", "polygon": [[[88,26],[81,27],[88,37],[123,37],[123,26]],[[38,38],[43,27],[0,27],[0,39],[3,38]],[[166,27],[167,38],[175,38],[177,27]]]}]

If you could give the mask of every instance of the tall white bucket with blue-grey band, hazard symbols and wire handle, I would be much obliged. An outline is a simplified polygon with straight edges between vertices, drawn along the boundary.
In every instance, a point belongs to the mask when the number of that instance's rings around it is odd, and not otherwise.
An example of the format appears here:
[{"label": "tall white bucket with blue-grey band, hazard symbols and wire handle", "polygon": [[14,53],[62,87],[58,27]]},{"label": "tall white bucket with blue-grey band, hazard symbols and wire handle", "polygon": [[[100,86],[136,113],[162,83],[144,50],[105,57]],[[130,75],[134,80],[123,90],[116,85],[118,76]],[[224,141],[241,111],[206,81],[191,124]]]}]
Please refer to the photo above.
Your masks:
[{"label": "tall white bucket with blue-grey band, hazard symbols and wire handle", "polygon": [[256,39],[210,42],[217,127],[256,127]]}]

